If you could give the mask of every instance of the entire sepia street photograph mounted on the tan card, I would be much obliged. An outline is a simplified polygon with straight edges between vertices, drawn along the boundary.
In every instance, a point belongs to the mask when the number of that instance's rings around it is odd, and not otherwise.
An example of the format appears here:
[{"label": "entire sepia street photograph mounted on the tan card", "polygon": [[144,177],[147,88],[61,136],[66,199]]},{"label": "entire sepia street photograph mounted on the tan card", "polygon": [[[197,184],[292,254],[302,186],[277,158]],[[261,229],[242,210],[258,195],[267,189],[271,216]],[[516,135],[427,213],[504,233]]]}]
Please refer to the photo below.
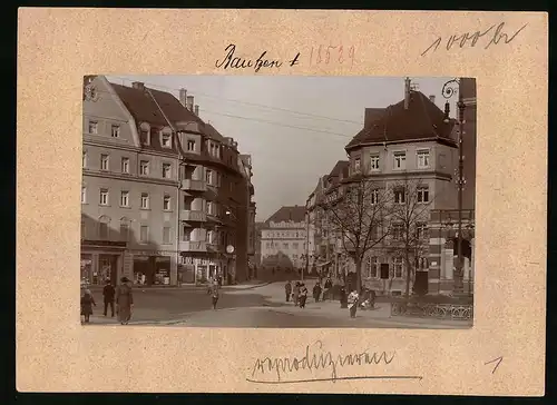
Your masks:
[{"label": "entire sepia street photograph mounted on the tan card", "polygon": [[84,326],[472,327],[476,79],[82,90]]}]

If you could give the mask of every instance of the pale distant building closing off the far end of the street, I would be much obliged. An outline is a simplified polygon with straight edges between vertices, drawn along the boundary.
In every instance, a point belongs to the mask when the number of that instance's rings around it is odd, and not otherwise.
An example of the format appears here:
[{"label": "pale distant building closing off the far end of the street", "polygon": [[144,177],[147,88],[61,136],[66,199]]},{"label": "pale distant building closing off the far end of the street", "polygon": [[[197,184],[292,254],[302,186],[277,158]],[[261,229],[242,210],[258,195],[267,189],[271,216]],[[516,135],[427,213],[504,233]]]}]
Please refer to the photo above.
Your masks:
[{"label": "pale distant building closing off the far end of the street", "polygon": [[305,268],[309,241],[305,207],[280,208],[261,230],[262,267],[287,273]]}]

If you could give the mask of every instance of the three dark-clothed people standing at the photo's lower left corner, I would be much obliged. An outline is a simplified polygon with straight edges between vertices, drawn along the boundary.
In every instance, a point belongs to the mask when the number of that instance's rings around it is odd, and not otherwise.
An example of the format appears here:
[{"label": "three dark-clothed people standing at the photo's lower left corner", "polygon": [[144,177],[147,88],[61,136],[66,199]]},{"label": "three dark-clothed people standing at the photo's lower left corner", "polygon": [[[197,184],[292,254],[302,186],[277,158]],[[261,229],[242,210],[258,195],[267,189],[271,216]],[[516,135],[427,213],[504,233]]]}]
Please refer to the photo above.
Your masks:
[{"label": "three dark-clothed people standing at the photo's lower left corner", "polygon": [[[108,315],[108,307],[110,307],[111,317],[114,317],[116,303],[118,322],[121,325],[127,325],[131,319],[131,309],[134,307],[134,295],[131,293],[129,279],[127,277],[121,277],[120,285],[116,288],[113,286],[110,280],[107,280],[105,287],[102,288],[102,298],[105,304],[104,315]],[[84,323],[89,324],[94,306],[97,306],[95,297],[92,296],[91,290],[86,288],[84,290],[84,295],[81,296],[81,316],[84,317]]]}]

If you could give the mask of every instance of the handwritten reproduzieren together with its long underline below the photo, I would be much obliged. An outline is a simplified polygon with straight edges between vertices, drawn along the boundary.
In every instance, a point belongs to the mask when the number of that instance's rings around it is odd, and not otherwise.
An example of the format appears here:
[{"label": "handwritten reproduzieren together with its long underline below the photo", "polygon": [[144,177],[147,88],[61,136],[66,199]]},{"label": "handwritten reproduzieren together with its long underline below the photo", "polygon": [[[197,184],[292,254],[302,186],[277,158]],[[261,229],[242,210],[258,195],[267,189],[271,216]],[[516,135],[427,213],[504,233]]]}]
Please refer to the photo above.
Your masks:
[{"label": "handwritten reproduzieren together with its long underline below the photo", "polygon": [[[251,383],[264,384],[289,384],[289,383],[310,383],[324,381],[345,381],[345,379],[421,379],[421,376],[402,376],[402,375],[369,375],[369,376],[339,376],[338,372],[341,368],[354,366],[371,366],[371,365],[389,365],[395,357],[395,352],[388,354],[387,352],[360,352],[352,354],[333,354],[323,349],[323,343],[317,340],[305,347],[303,357],[264,357],[257,358],[255,362],[251,378],[246,378]],[[295,374],[300,371],[317,372],[326,371],[330,377],[326,378],[304,378],[296,379]],[[285,375],[291,375],[291,379],[284,379]]]}]

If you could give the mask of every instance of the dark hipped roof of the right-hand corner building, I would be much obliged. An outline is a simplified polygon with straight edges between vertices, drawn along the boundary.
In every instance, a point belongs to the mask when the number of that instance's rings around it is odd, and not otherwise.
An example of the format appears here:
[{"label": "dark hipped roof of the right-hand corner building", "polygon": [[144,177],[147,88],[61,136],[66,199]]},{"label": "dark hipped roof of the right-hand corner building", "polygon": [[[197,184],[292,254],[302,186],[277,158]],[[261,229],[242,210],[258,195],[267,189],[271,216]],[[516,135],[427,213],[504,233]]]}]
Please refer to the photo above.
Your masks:
[{"label": "dark hipped roof of the right-hand corner building", "polygon": [[404,100],[389,106],[369,128],[356,134],[345,149],[382,141],[449,139],[452,124],[444,124],[443,119],[443,111],[427,96],[420,91],[411,91],[408,109],[404,109]]}]

